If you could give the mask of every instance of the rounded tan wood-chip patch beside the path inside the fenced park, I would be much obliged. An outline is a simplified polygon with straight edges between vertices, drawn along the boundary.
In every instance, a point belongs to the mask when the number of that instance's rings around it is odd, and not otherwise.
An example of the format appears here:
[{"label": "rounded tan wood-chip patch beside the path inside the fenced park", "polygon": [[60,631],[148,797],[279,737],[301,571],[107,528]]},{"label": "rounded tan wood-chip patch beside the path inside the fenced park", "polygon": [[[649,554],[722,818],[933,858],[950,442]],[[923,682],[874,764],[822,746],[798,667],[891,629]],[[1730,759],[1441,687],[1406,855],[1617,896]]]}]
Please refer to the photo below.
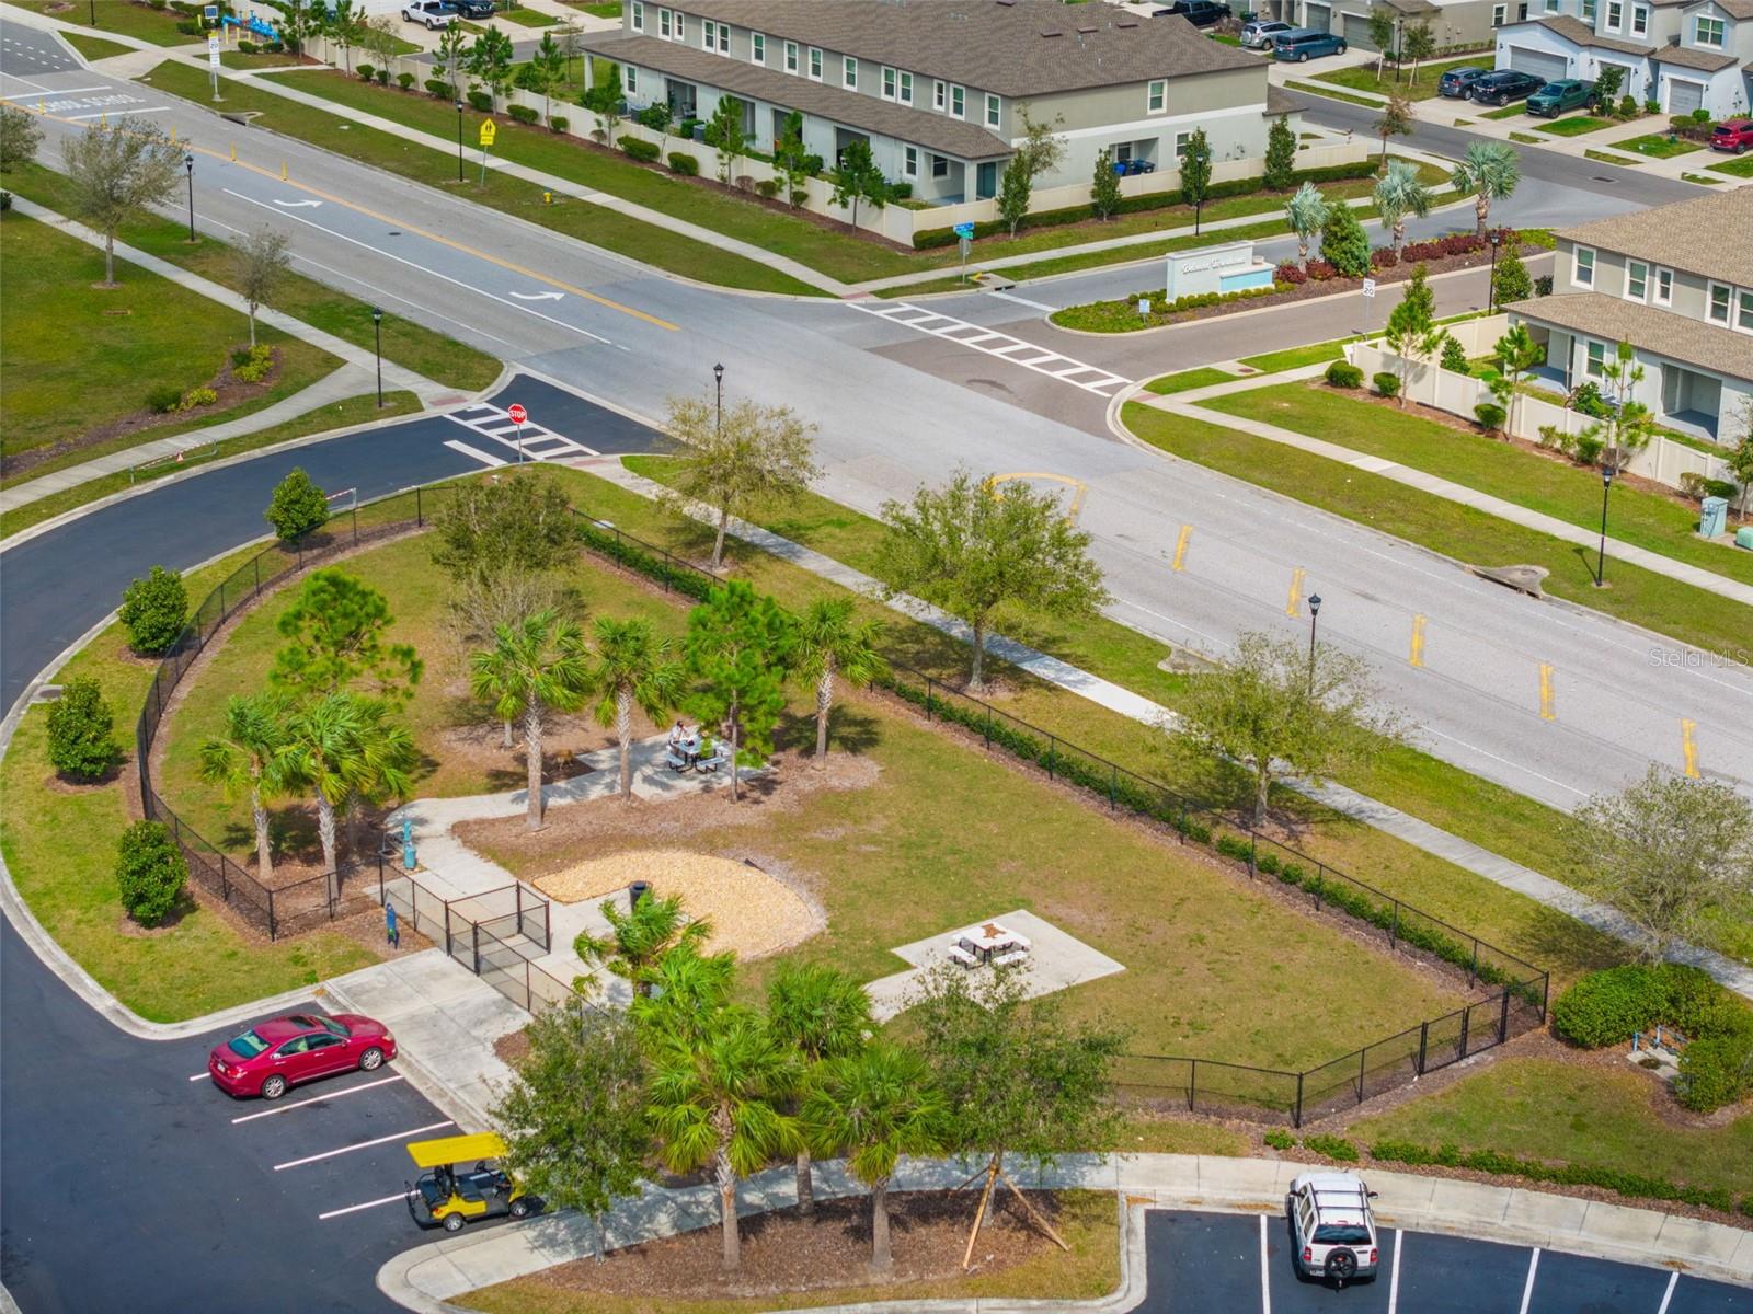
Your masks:
[{"label": "rounded tan wood-chip patch beside the path inside the fenced park", "polygon": [[633,881],[652,894],[682,895],[689,916],[708,918],[710,951],[735,950],[743,958],[778,953],[822,929],[820,913],[785,881],[735,858],[684,848],[647,848],[577,862],[542,876],[535,887],[561,904],[607,899]]}]

